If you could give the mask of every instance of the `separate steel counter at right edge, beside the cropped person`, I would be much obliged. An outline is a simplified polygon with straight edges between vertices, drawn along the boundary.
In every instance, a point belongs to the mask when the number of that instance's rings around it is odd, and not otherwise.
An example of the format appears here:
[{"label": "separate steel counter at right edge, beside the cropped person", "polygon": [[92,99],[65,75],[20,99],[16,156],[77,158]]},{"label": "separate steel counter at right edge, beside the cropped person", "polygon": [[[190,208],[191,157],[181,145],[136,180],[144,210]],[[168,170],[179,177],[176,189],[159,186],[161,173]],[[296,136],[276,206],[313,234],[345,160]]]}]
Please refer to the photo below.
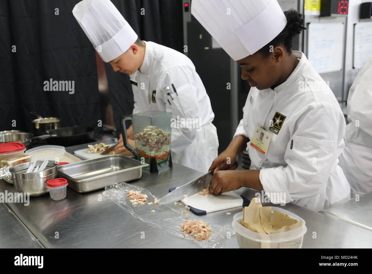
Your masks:
[{"label": "separate steel counter at right edge, beside the cropped person", "polygon": [[360,195],[359,201],[352,198],[346,202],[338,202],[320,213],[372,231],[372,192]]}]

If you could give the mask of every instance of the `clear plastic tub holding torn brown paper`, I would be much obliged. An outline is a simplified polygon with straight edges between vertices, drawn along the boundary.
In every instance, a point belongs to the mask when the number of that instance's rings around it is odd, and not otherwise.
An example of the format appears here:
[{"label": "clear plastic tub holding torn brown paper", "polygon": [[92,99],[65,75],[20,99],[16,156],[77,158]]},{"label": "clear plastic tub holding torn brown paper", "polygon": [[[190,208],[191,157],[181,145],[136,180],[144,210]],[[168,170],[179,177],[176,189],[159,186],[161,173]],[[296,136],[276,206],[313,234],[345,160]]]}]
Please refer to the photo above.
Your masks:
[{"label": "clear plastic tub holding torn brown paper", "polygon": [[307,232],[305,220],[279,207],[271,207],[271,216],[274,210],[278,210],[291,218],[302,221],[302,226],[283,233],[271,235],[260,234],[245,228],[239,223],[243,217],[243,212],[239,212],[234,215],[232,227],[236,232],[236,238],[240,248],[301,248],[304,234]]}]

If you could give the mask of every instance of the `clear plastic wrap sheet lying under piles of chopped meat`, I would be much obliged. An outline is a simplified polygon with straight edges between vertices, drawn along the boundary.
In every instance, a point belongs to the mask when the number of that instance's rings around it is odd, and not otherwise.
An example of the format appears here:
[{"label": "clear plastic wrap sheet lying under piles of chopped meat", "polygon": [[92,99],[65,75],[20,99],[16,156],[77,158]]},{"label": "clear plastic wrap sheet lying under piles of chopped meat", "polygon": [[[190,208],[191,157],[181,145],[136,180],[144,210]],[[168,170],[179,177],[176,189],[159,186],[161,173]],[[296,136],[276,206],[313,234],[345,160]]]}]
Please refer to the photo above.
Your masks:
[{"label": "clear plastic wrap sheet lying under piles of chopped meat", "polygon": [[[132,205],[130,202],[131,198],[127,197],[129,190],[137,190],[141,191],[142,194],[147,194],[148,198],[145,204]],[[214,225],[186,210],[185,206],[178,206],[179,203],[177,203],[177,208],[175,205],[148,205],[148,202],[154,202],[155,196],[145,188],[128,183],[119,183],[107,186],[103,195],[106,198],[112,199],[115,204],[119,205],[119,207],[123,208],[134,217],[150,224],[161,232],[173,234],[177,237],[185,235],[185,240],[192,240],[203,248],[223,248],[227,235],[230,234],[232,236],[235,233],[230,225]],[[151,210],[155,210],[155,212],[151,213]],[[185,214],[181,211],[186,211],[188,217],[185,217]],[[180,231],[180,225],[183,223],[182,221],[189,219],[205,221],[211,227],[212,233],[209,236],[209,239],[196,240],[195,238],[190,237],[189,234]]]}]

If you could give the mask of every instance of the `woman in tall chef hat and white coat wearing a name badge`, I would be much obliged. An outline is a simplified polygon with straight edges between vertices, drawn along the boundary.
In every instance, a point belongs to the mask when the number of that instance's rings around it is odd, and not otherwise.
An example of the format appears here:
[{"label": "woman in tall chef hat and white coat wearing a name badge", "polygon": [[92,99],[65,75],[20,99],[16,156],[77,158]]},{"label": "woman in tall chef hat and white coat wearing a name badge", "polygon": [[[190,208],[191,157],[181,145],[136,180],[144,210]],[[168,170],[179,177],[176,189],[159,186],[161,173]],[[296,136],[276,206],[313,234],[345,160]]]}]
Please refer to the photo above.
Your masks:
[{"label": "woman in tall chef hat and white coat wearing a name badge", "polygon": [[[209,190],[245,186],[264,190],[274,204],[314,211],[350,198],[337,160],[344,148],[343,113],[306,56],[292,51],[292,39],[305,29],[302,16],[283,13],[276,0],[194,0],[191,12],[251,86],[230,145],[209,168],[215,169]],[[234,170],[242,151],[250,170]]]}]

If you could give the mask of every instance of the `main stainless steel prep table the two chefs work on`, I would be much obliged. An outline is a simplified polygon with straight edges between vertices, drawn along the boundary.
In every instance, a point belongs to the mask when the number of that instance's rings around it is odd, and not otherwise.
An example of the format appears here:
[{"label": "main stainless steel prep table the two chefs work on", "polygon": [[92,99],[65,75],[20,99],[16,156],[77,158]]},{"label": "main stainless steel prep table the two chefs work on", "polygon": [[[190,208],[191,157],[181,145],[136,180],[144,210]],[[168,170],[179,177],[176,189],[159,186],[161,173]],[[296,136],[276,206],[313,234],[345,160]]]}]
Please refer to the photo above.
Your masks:
[{"label": "main stainless steel prep table the two chefs work on", "polygon": [[[173,164],[173,168],[158,174],[142,173],[142,177],[130,183],[150,190],[155,196],[162,196],[168,189],[183,185],[199,171]],[[14,187],[0,180],[0,190],[16,191]],[[67,197],[53,201],[49,195],[30,198],[30,205],[8,204],[28,229],[47,248],[198,248],[192,241],[163,233],[125,212],[110,199],[102,196],[103,190],[77,193],[67,188]],[[239,189],[240,194],[253,198],[252,189]],[[270,204],[264,204],[265,206]],[[275,205],[273,205],[275,206]],[[371,231],[336,218],[310,211],[294,204],[283,208],[294,212],[306,221],[307,233],[303,248],[371,248]],[[234,214],[241,207],[208,213],[202,217],[218,224],[231,224]],[[231,212],[231,215],[226,215]],[[192,214],[190,212],[190,214]],[[190,215],[189,215],[190,216]],[[59,238],[55,237],[56,232]],[[141,239],[145,232],[145,239]],[[316,232],[316,238],[313,238]],[[238,248],[235,236],[227,239],[226,248]]]}]

